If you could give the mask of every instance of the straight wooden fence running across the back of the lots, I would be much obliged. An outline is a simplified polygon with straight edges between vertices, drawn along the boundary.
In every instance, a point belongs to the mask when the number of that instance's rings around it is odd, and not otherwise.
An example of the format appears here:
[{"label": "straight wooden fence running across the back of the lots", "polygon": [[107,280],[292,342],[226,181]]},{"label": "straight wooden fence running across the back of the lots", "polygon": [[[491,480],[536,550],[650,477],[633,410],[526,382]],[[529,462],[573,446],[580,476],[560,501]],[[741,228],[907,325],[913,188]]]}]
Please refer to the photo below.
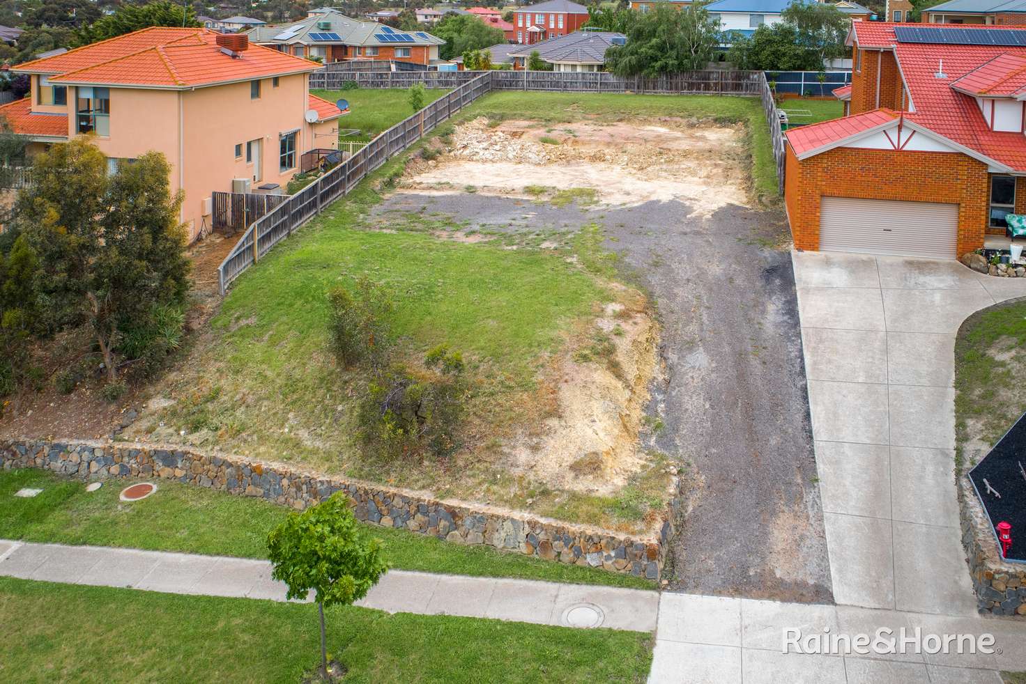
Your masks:
[{"label": "straight wooden fence running across the back of the lots", "polygon": [[606,72],[452,71],[452,72],[331,72],[310,75],[311,88],[338,89],[347,81],[361,88],[457,88],[482,75],[491,75],[495,90],[543,92],[633,92],[636,94],[757,95],[765,81],[762,72],[709,70],[659,78],[621,78]]}]

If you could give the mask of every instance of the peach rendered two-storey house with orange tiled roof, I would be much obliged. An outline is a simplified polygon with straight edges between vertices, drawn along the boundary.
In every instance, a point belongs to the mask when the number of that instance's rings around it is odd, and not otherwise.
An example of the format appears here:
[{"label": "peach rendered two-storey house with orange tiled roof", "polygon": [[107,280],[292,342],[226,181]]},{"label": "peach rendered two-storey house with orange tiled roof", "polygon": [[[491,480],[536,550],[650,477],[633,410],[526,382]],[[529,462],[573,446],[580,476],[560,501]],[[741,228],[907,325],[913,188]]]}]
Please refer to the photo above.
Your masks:
[{"label": "peach rendered two-storey house with orange tiled roof", "polygon": [[194,239],[210,227],[213,191],[239,178],[283,189],[304,151],[338,148],[344,112],[310,94],[317,67],[244,35],[154,27],[14,67],[32,89],[0,116],[30,154],[86,133],[111,168],[163,153]]}]

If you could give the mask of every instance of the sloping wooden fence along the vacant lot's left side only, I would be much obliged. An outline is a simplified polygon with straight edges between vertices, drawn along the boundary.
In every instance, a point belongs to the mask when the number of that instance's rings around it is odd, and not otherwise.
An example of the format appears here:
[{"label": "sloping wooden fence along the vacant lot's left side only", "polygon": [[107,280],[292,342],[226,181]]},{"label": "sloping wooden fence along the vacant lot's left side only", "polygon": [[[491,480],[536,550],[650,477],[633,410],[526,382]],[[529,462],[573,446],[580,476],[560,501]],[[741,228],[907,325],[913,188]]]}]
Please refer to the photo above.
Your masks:
[{"label": "sloping wooden fence along the vacant lot's left side only", "polygon": [[221,263],[218,269],[221,293],[224,294],[239,274],[261,259],[275,244],[291,235],[292,231],[320,213],[328,204],[349,193],[364,176],[490,90],[491,75],[478,76],[381,133],[352,157],[300,192],[281,196],[282,203],[251,224]]}]

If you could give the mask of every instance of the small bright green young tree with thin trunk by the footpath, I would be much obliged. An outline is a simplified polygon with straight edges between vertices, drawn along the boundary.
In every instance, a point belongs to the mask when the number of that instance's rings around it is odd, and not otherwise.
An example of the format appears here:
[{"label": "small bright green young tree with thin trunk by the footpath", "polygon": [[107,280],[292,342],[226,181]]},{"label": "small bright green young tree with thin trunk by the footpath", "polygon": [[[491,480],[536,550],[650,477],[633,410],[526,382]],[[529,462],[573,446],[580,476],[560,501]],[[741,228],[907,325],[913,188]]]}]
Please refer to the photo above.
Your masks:
[{"label": "small bright green young tree with thin trunk by the footpath", "polygon": [[315,592],[321,627],[321,675],[327,677],[324,606],[352,605],[388,570],[378,539],[360,532],[349,499],[336,492],[303,513],[289,513],[267,538],[271,576],[288,587],[289,599]]}]

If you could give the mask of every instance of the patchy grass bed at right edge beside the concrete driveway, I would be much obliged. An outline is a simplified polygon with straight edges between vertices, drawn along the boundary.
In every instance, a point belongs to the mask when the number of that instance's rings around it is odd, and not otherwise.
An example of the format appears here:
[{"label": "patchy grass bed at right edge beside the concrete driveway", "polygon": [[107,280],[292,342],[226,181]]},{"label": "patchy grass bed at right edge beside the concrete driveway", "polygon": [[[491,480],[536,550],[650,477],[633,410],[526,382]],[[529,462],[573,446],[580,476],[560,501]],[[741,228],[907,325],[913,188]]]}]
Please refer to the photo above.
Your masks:
[{"label": "patchy grass bed at right edge beside the concrete driveway", "polygon": [[956,461],[971,442],[993,445],[1026,412],[1026,301],[971,316],[955,340]]}]

